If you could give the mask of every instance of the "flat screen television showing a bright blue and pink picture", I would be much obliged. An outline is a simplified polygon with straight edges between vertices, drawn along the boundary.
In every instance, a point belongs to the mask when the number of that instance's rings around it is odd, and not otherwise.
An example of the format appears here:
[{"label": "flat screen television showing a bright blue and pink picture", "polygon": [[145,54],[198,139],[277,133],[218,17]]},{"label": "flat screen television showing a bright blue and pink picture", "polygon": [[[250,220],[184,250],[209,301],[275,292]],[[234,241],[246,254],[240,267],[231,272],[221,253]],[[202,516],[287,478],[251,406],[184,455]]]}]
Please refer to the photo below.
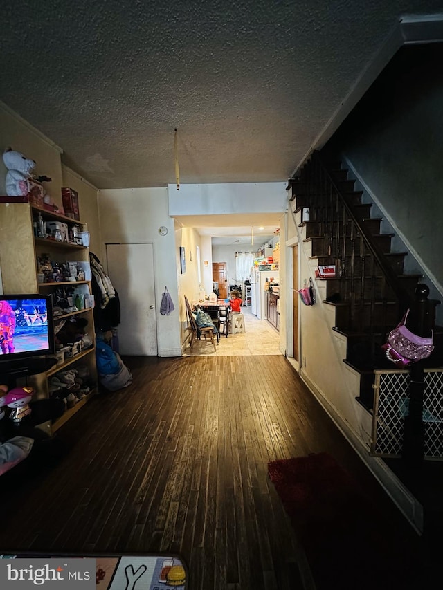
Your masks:
[{"label": "flat screen television showing a bright blue and pink picture", "polygon": [[54,348],[51,295],[0,294],[0,374],[44,371]]}]

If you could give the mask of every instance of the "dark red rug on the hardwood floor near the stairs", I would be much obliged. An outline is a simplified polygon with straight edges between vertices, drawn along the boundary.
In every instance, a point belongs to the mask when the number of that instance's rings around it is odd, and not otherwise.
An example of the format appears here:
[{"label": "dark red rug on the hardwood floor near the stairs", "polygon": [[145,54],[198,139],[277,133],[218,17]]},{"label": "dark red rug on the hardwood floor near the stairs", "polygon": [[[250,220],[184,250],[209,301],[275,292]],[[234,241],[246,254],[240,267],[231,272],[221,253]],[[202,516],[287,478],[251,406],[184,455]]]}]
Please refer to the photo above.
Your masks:
[{"label": "dark red rug on the hardwood floor near the stairs", "polygon": [[271,461],[268,470],[317,590],[422,587],[420,555],[331,455]]}]

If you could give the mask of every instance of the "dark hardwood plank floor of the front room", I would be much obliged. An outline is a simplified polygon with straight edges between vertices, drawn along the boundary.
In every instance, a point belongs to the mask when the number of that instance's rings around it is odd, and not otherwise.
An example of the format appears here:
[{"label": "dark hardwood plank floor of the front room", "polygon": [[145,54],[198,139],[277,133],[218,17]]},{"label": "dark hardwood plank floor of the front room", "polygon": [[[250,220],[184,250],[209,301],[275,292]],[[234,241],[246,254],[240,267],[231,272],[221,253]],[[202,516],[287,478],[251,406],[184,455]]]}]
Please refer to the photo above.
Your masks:
[{"label": "dark hardwood plank floor of the front room", "polygon": [[96,396],[57,432],[66,457],[0,492],[2,553],[174,552],[190,590],[309,589],[267,463],[324,450],[395,518],[283,356],[125,362],[133,384]]}]

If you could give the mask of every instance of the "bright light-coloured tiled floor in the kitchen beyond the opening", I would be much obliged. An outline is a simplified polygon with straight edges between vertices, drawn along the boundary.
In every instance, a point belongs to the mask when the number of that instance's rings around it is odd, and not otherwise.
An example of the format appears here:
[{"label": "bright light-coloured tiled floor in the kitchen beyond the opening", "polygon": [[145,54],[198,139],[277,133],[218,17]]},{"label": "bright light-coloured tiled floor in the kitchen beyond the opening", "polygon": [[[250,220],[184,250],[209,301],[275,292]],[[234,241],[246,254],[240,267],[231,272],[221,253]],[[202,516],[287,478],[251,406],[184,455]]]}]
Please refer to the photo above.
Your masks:
[{"label": "bright light-coloured tiled floor in the kitchen beyond the opening", "polygon": [[217,344],[217,352],[214,352],[210,340],[195,340],[190,347],[186,347],[185,354],[190,356],[199,355],[222,355],[222,356],[251,356],[281,354],[278,349],[280,339],[279,333],[267,320],[257,320],[251,313],[251,307],[242,307],[246,332],[242,334],[229,334],[228,338],[220,335]]}]

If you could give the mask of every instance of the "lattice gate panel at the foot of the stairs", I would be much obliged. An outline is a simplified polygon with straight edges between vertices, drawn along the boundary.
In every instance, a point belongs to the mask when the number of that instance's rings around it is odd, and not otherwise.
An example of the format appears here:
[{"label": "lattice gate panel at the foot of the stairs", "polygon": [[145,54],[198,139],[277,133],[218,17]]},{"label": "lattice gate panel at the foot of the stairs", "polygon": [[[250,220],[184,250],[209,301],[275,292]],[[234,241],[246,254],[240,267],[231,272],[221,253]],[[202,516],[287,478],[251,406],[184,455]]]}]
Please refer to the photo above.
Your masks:
[{"label": "lattice gate panel at the foot of the stairs", "polygon": [[[443,459],[443,369],[425,370],[423,421],[425,459]],[[408,415],[408,371],[376,371],[372,454],[400,457]]]}]

